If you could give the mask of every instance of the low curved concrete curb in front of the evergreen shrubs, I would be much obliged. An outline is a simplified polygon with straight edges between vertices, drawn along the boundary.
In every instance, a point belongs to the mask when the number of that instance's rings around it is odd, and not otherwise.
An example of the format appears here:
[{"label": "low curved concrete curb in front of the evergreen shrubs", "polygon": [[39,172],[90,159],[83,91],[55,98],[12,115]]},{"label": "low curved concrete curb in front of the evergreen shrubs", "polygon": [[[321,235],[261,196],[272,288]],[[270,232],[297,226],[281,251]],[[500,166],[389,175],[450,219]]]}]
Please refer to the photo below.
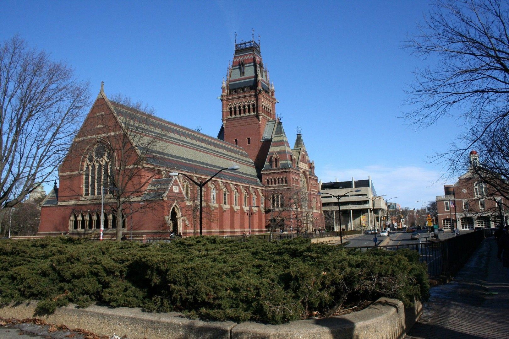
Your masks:
[{"label": "low curved concrete curb in front of the evergreen shrubs", "polygon": [[402,338],[421,313],[421,303],[405,309],[397,299],[380,298],[366,309],[339,317],[292,321],[283,325],[254,322],[236,324],[191,320],[179,313],[146,313],[127,307],[76,305],[60,307],[51,315],[34,316],[36,302],[0,309],[1,318],[38,318],[99,335],[127,335],[130,339],[160,338]]}]

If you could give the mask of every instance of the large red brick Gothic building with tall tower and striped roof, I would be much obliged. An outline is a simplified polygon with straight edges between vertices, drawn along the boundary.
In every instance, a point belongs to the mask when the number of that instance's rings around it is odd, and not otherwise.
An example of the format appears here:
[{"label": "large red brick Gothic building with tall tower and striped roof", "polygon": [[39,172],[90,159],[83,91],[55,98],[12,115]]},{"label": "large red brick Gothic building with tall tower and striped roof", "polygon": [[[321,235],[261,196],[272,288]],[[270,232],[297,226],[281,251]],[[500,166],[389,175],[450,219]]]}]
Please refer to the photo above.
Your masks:
[{"label": "large red brick Gothic building with tall tower and striped roof", "polygon": [[[197,234],[205,182],[203,234],[296,232],[323,227],[318,178],[297,134],[290,147],[275,115],[275,91],[255,41],[235,45],[221,86],[217,138],[110,101],[101,91],[43,202],[40,235],[113,238]],[[178,172],[173,176],[170,173]],[[104,193],[103,195],[101,193]],[[117,222],[119,220],[119,222]]]}]

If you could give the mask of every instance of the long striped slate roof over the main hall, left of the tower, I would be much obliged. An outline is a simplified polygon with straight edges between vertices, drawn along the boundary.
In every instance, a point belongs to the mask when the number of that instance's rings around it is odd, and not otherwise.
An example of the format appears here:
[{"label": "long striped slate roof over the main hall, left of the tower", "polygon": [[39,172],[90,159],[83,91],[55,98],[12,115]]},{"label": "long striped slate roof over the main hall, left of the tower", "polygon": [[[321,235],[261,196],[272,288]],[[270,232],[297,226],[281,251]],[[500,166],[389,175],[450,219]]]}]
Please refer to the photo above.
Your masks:
[{"label": "long striped slate roof over the main hall, left of the tower", "polygon": [[238,165],[239,170],[223,171],[217,178],[261,184],[253,162],[242,148],[122,104],[107,102],[123,128],[142,138],[138,144],[150,145],[149,149],[137,147],[140,153],[147,154],[146,163],[199,176],[212,176],[221,168]]}]

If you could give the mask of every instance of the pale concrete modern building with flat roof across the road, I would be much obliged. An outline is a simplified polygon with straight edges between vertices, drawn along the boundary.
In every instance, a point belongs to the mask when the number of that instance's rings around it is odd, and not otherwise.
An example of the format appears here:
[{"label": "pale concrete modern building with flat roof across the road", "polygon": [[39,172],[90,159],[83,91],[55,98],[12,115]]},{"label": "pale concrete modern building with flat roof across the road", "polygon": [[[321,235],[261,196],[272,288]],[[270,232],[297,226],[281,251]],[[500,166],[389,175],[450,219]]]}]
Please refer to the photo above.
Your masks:
[{"label": "pale concrete modern building with flat roof across the road", "polygon": [[[352,192],[360,190],[360,192]],[[325,226],[333,231],[380,229],[382,217],[385,215],[386,203],[378,196],[371,176],[367,180],[333,181],[321,183],[322,210]],[[340,196],[338,199],[329,196]],[[341,219],[340,208],[341,207]]]}]

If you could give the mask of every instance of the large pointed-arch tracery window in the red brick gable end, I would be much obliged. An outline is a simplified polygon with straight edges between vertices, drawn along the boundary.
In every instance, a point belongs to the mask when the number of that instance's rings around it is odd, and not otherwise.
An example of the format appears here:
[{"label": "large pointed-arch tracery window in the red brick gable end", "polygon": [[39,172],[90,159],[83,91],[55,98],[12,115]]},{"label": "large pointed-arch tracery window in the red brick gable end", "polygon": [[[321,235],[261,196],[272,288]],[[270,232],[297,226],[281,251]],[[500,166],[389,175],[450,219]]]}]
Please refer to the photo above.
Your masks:
[{"label": "large pointed-arch tracery window in the red brick gable end", "polygon": [[101,195],[101,188],[107,188],[110,185],[111,172],[111,153],[104,143],[99,142],[85,159],[83,194],[85,196]]}]

